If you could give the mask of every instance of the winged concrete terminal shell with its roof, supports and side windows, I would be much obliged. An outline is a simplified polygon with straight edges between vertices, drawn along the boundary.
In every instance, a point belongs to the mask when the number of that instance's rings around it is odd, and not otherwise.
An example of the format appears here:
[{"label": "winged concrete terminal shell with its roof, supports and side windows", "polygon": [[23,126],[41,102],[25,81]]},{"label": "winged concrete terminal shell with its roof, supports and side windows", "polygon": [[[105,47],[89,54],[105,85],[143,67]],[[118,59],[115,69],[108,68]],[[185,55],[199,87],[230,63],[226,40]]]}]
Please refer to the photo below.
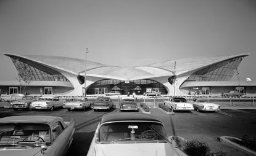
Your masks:
[{"label": "winged concrete terminal shell with its roof, supports and side windows", "polygon": [[[43,55],[5,55],[10,57],[19,73],[30,71],[32,75],[30,87],[54,86],[54,94],[82,95],[85,60]],[[138,80],[152,80],[163,85],[167,91],[163,94],[167,95],[188,95],[195,88],[202,92],[204,87],[226,87],[227,84],[234,87],[237,84],[231,83],[230,80],[242,58],[248,55],[249,53],[242,53],[224,57],[183,58],[133,67],[110,66],[87,61],[86,89],[101,80],[119,80],[119,84],[124,82],[136,84]],[[120,86],[124,85],[116,84],[108,88],[108,91]],[[137,83],[134,87],[141,86]],[[210,93],[215,92],[212,88],[209,90]],[[39,93],[39,88],[34,91]],[[143,87],[142,91],[145,92],[146,88]],[[216,91],[217,94],[221,92]],[[207,92],[207,94],[210,93]]]}]

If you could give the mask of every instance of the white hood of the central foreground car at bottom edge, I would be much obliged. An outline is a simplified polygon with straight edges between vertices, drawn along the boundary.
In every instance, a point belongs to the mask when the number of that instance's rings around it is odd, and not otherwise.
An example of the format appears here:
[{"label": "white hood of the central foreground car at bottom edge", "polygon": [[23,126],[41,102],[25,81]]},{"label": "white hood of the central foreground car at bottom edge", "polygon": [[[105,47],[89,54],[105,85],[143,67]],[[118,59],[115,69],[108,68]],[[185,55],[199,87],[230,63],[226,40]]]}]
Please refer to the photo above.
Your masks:
[{"label": "white hood of the central foreground car at bottom edge", "polygon": [[97,144],[94,151],[97,156],[178,155],[169,143]]}]

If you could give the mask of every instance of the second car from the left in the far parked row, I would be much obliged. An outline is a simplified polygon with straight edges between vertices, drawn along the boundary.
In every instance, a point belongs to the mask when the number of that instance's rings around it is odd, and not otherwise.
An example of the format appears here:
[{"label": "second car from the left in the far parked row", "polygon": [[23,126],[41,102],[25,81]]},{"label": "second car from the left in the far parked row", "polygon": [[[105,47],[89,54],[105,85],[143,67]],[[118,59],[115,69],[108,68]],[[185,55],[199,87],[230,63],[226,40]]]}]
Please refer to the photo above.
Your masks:
[{"label": "second car from the left in the far parked row", "polygon": [[11,104],[12,109],[14,111],[17,111],[18,109],[28,109],[30,110],[30,104],[35,101],[35,98],[33,96],[23,96],[22,99],[13,101]]}]

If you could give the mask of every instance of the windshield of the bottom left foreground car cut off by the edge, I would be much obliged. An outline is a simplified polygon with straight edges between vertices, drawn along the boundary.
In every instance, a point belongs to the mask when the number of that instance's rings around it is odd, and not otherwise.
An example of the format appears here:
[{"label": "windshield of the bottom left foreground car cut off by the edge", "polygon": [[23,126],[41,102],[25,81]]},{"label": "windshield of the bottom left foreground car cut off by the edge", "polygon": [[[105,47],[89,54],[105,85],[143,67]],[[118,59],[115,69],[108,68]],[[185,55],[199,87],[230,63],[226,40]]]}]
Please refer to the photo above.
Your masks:
[{"label": "windshield of the bottom left foreground car cut off by the edge", "polygon": [[41,146],[50,141],[49,130],[42,123],[0,123],[0,149]]}]

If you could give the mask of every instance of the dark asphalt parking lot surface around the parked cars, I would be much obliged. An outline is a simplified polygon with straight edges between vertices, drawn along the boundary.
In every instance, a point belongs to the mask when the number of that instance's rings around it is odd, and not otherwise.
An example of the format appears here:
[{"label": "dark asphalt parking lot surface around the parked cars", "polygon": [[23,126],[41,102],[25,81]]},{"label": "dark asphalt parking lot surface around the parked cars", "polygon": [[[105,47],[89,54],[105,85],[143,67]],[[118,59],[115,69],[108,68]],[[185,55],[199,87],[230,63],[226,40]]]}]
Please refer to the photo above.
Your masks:
[{"label": "dark asphalt parking lot surface around the parked cars", "polygon": [[[115,106],[118,102],[115,101]],[[114,107],[110,112],[117,112]],[[8,108],[0,109],[0,117],[10,115],[54,115],[64,120],[75,120],[75,136],[67,155],[86,155],[93,139],[94,131],[102,115],[109,111],[67,111],[56,109],[54,111],[13,111]],[[123,112],[125,113],[125,112]],[[139,111],[138,113],[144,113]],[[159,107],[151,109],[151,115],[162,120],[167,130],[167,135],[178,135],[185,139],[198,139],[209,144],[212,152],[223,150],[231,155],[243,155],[231,147],[225,146],[218,141],[220,136],[234,136],[241,138],[242,135],[256,136],[256,110],[255,109],[223,109],[220,112],[175,112],[167,114]]]}]

